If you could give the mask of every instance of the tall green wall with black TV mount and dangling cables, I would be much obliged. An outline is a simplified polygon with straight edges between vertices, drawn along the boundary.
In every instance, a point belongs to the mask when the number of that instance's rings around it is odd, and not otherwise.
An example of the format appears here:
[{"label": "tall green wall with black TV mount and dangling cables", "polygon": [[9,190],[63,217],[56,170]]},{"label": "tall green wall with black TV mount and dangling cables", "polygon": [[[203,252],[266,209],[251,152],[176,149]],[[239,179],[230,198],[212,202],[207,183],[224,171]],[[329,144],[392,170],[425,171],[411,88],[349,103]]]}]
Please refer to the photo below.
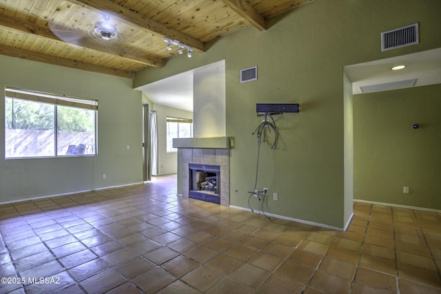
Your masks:
[{"label": "tall green wall with black TV mount and dangling cables", "polygon": [[[162,69],[143,70],[134,87],[225,59],[226,129],[235,139],[230,204],[245,208],[256,170],[256,103],[300,103],[300,114],[276,117],[276,151],[269,144],[260,150],[258,188],[279,194],[265,210],[341,228],[350,198],[343,67],[441,47],[440,11],[438,0],[315,0],[269,19],[265,32],[246,28],[209,43],[192,59],[177,56]],[[416,22],[420,44],[381,52],[380,32]],[[254,65],[258,81],[240,83],[239,71]],[[253,199],[252,207],[260,205]]]}]

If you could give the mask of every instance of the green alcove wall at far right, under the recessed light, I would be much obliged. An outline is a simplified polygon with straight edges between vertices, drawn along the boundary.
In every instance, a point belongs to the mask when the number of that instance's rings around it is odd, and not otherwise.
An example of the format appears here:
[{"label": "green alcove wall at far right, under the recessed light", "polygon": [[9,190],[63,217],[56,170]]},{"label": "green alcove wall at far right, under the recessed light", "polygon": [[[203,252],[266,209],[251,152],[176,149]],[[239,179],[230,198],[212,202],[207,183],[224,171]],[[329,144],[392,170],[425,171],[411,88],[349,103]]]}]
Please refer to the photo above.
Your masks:
[{"label": "green alcove wall at far right, under the recessed light", "polygon": [[440,109],[441,85],[353,96],[354,198],[441,209]]}]

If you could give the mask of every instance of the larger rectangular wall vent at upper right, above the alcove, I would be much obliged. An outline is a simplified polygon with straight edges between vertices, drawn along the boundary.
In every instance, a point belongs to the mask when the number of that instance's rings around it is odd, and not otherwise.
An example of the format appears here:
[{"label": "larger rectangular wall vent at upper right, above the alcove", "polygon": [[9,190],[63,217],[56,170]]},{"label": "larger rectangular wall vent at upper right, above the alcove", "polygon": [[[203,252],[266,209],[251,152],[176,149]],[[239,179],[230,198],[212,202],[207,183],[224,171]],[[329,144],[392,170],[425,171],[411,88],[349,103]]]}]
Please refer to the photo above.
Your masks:
[{"label": "larger rectangular wall vent at upper right, above the alcove", "polygon": [[420,43],[418,23],[381,33],[381,51]]}]

